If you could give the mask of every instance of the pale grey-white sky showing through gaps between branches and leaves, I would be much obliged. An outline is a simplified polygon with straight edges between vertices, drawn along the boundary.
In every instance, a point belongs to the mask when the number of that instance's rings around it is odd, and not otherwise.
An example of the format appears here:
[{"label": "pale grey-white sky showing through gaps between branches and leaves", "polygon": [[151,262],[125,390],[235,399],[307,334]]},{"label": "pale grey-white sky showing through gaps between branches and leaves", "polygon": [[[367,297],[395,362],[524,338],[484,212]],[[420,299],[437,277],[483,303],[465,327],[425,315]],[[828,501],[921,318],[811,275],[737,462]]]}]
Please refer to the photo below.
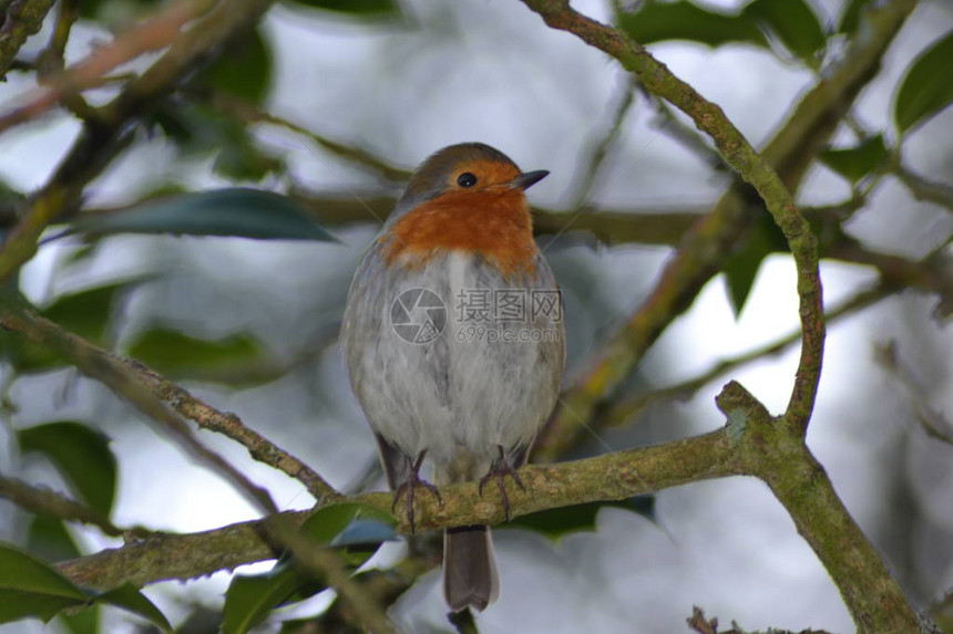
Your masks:
[{"label": "pale grey-white sky showing through gaps between branches and leaves", "polygon": [[[841,4],[814,3],[834,17]],[[515,1],[403,4],[413,28],[367,29],[359,22],[276,7],[265,21],[277,69],[268,107],[408,167],[451,143],[489,143],[525,170],[552,173],[530,191],[532,202],[554,208],[568,205],[580,156],[606,128],[624,81],[617,64],[574,37],[545,28]],[[607,17],[602,2],[574,6],[592,17]],[[892,91],[909,61],[951,27],[950,4],[922,2],[884,59],[880,77],[860,100],[857,112],[868,126],[880,128],[889,121]],[[71,59],[83,55],[98,37],[89,29],[80,29],[76,35]],[[31,45],[43,41],[45,35]],[[756,145],[769,138],[811,81],[808,72],[749,46],[713,51],[663,43],[650,50],[721,105]],[[28,87],[22,75],[11,74],[0,84],[0,104]],[[694,207],[717,199],[724,178],[713,177],[700,160],[650,127],[650,121],[644,102],[637,103],[593,199],[631,208]],[[908,162],[923,175],[949,183],[951,128],[953,113],[947,110],[904,146]],[[53,115],[4,134],[0,178],[21,189],[41,185],[75,131],[69,118]],[[342,184],[360,189],[369,183],[361,173],[314,150],[318,159],[312,148],[288,135],[273,131],[263,135],[287,153],[295,176],[304,183],[336,189]],[[122,202],[150,183],[170,178],[195,188],[224,185],[209,175],[209,164],[208,159],[175,160],[173,149],[157,138],[98,180],[90,198],[96,204]],[[280,184],[264,184],[269,185]],[[834,202],[848,194],[842,180],[816,169],[802,187],[800,201]],[[888,184],[850,230],[872,247],[918,257],[953,230],[953,217],[913,201],[900,186]],[[373,231],[370,226],[339,231],[342,245],[115,238],[92,266],[58,274],[55,280],[51,274],[69,247],[50,247],[24,271],[24,290],[42,302],[58,289],[134,271],[174,272],[170,281],[147,284],[132,298],[120,343],[144,328],[146,320],[154,320],[201,335],[252,329],[277,353],[287,354],[318,331],[320,324],[312,315],[339,318],[347,283]],[[571,336],[577,337],[571,342],[572,373],[590,357],[597,329],[639,305],[668,250],[637,246],[593,250],[557,243],[546,254],[567,287],[568,319],[576,320],[570,323]],[[563,277],[570,274],[575,276],[574,285]],[[875,279],[871,270],[838,263],[824,263],[822,277],[829,305]],[[594,282],[587,287],[580,279]],[[581,289],[591,294],[581,294]],[[808,438],[842,500],[874,542],[914,543],[903,561],[891,560],[891,565],[906,571],[908,583],[916,584],[909,590],[921,603],[953,586],[949,545],[953,541],[953,455],[916,426],[902,392],[874,364],[872,351],[877,343],[895,340],[922,380],[930,406],[947,419],[953,417],[949,363],[953,331],[940,329],[930,319],[933,303],[931,298],[906,292],[830,329]],[[652,349],[641,381],[643,386],[668,385],[796,326],[793,266],[789,258],[772,257],[760,271],[740,320],[735,320],[724,282],[717,278]],[[797,349],[730,377],[772,412],[780,412],[796,365]],[[728,378],[714,382],[687,403],[653,407],[633,430],[606,433],[593,441],[592,450],[603,450],[602,443],[622,448],[720,426],[723,418],[713,398]],[[69,381],[62,373],[20,381],[12,397],[29,406],[13,425],[69,417],[96,420],[113,438],[120,459],[116,523],[196,531],[256,517],[227,484],[189,465],[174,447],[144,430],[104,388],[80,380],[82,389],[64,389]],[[347,485],[373,459],[371,435],[350,395],[336,347],[319,363],[268,385],[244,391],[188,388],[293,449],[332,485]],[[201,438],[267,486],[283,508],[309,505],[300,485],[252,462],[244,448],[209,434]],[[0,429],[0,461],[10,456],[9,445],[9,433]],[[18,475],[55,482],[37,469]],[[905,482],[908,495],[929,521],[898,521],[892,501],[898,480]],[[854,630],[833,583],[762,484],[735,478],[669,489],[658,493],[656,510],[655,522],[606,510],[595,532],[574,534],[556,544],[524,531],[496,530],[502,595],[479,617],[481,632],[685,632],[693,605],[723,624],[734,620],[746,630]],[[0,539],[16,534],[16,527],[4,520],[3,513],[9,512],[9,506],[0,503]],[[892,536],[895,527],[914,531],[916,539],[908,540],[909,533]],[[114,542],[85,539],[84,543],[98,549]],[[390,554],[399,548],[390,547]],[[145,592],[175,623],[187,611],[185,600],[216,605],[227,579],[216,574],[186,585],[152,585]],[[438,581],[433,571],[400,602],[396,615],[409,632],[426,631],[427,624],[444,626]],[[308,614],[324,600],[291,613]],[[113,632],[131,630],[124,614],[111,612],[109,623]],[[0,626],[3,634],[37,631],[24,624]]]}]

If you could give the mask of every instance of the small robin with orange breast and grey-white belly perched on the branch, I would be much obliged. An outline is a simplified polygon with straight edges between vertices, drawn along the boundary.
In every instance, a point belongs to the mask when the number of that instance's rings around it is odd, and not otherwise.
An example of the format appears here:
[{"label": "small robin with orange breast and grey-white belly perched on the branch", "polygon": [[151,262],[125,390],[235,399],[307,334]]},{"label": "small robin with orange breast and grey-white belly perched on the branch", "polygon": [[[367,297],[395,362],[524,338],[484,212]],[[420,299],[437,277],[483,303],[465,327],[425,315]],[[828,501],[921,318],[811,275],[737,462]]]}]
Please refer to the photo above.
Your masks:
[{"label": "small robin with orange breast and grey-white belly perched on the branch", "polygon": [[[411,177],[355,273],[341,344],[394,505],[424,457],[437,486],[503,479],[546,422],[565,366],[562,299],[533,240],[523,173],[480,143],[445,147]],[[444,531],[443,593],[454,612],[499,594],[490,529]]]}]

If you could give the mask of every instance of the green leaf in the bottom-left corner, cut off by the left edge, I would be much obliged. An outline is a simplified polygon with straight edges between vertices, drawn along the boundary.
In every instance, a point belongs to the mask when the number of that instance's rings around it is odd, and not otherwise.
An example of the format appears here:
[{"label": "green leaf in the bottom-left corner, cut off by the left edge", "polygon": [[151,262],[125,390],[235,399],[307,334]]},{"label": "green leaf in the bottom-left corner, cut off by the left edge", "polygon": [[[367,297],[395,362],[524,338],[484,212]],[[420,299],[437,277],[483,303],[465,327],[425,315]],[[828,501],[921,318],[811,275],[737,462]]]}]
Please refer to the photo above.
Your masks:
[{"label": "green leaf in the bottom-left corner, cut off by the left edge", "polygon": [[0,623],[29,616],[49,621],[86,595],[42,561],[0,543]]}]

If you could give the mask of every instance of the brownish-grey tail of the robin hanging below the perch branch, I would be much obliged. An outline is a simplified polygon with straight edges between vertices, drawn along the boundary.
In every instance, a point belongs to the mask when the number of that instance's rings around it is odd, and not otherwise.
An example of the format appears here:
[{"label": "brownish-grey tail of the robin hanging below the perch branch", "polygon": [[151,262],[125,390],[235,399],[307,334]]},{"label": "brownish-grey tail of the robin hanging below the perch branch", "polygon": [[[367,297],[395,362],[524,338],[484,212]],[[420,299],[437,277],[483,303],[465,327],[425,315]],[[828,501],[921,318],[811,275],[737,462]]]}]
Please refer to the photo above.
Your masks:
[{"label": "brownish-grey tail of the robin hanging below the perch branch", "polygon": [[443,595],[450,610],[468,605],[484,610],[496,601],[500,578],[490,527],[469,526],[443,531]]}]

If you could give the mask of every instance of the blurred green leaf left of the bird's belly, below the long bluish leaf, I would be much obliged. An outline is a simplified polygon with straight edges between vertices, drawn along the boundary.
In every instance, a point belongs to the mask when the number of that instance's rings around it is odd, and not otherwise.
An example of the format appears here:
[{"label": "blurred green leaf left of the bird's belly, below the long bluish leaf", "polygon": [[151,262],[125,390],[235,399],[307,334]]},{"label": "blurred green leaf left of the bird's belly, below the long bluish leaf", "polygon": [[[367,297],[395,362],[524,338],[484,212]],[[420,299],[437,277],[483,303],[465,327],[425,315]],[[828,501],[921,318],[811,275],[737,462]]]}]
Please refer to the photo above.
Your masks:
[{"label": "blurred green leaf left of the bird's belly, below the long bluish leaf", "polygon": [[247,334],[208,341],[164,328],[140,334],[129,355],[163,374],[192,377],[214,376],[216,371],[267,358],[262,343]]}]

